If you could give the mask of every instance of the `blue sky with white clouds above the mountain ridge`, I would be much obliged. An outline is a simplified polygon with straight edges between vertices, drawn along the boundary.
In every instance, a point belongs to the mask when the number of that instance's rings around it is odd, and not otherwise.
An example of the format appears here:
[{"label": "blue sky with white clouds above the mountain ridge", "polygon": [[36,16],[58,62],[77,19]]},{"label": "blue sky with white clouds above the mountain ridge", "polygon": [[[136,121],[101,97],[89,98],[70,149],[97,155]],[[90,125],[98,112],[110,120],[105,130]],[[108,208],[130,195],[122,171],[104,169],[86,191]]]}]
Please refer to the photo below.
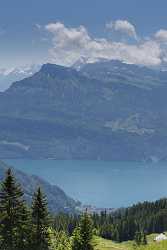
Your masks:
[{"label": "blue sky with white clouds above the mountain ridge", "polygon": [[167,63],[166,0],[0,0],[0,68]]}]

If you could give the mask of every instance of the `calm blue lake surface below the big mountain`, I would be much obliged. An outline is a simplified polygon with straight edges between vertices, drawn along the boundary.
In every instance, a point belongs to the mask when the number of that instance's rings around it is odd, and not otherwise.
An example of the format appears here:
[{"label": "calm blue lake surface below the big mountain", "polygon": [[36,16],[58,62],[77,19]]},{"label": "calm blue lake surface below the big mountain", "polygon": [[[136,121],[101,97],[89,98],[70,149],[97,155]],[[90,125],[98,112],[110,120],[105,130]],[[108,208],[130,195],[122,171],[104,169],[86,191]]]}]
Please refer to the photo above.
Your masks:
[{"label": "calm blue lake surface below the big mountain", "polygon": [[122,207],[167,196],[167,163],[5,160],[84,204]]}]

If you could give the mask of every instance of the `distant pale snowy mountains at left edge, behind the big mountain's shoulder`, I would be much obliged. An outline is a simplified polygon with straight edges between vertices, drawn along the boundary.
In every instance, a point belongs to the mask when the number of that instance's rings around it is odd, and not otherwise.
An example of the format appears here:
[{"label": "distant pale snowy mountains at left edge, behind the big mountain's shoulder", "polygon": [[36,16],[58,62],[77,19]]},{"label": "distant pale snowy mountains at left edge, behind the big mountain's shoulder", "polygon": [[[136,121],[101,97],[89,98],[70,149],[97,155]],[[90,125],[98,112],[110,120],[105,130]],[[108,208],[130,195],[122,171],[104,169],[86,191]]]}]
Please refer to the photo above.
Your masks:
[{"label": "distant pale snowy mountains at left edge, behind the big mountain's shoulder", "polygon": [[40,65],[31,65],[20,68],[0,69],[0,91],[5,91],[15,81],[33,75],[39,68]]}]

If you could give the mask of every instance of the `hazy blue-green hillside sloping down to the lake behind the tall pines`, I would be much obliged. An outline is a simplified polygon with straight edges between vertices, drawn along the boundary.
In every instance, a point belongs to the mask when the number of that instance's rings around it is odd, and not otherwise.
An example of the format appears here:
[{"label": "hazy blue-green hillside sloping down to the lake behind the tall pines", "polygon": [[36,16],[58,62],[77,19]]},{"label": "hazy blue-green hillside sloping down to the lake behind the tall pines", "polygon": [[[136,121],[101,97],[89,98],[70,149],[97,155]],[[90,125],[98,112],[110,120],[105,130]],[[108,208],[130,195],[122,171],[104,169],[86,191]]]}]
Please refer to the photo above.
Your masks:
[{"label": "hazy blue-green hillside sloping down to the lake behind the tall pines", "polygon": [[[4,178],[4,173],[9,168],[4,162],[0,161],[0,181]],[[48,206],[52,212],[74,212],[78,202],[68,197],[59,187],[49,184],[35,175],[27,175],[19,170],[13,169],[18,182],[22,185],[25,198],[31,202],[32,195],[37,187],[41,187],[47,195]]]}]

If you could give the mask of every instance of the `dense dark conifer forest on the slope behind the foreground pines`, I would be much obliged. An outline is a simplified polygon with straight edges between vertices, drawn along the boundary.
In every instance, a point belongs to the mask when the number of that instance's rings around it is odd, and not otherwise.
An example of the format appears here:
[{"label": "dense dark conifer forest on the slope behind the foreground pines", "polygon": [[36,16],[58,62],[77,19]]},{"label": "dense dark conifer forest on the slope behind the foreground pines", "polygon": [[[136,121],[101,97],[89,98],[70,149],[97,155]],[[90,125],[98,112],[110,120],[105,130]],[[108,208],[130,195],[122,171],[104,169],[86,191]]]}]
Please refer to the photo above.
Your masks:
[{"label": "dense dark conifer forest on the slope behind the foreground pines", "polygon": [[[134,240],[138,233],[151,234],[167,231],[167,199],[144,202],[108,214],[91,215],[97,235],[123,242]],[[55,217],[54,228],[72,234],[79,216],[60,214]]]}]

